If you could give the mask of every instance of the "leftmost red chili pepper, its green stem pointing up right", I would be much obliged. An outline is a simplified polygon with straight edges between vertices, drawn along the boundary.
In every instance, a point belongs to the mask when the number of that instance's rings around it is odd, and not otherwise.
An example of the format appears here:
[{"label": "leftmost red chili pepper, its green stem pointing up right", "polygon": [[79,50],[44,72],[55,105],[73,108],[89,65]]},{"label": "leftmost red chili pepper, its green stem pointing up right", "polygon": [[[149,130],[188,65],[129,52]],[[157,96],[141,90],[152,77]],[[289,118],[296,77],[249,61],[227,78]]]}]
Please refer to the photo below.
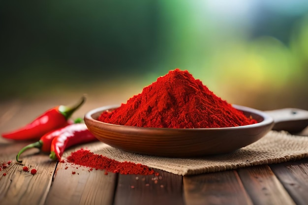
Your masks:
[{"label": "leftmost red chili pepper, its green stem pointing up right", "polygon": [[15,131],[3,133],[1,135],[3,138],[12,140],[37,140],[49,131],[68,125],[69,117],[71,117],[85,100],[86,97],[83,96],[81,100],[72,107],[64,105],[56,106],[35,118],[31,123]]}]

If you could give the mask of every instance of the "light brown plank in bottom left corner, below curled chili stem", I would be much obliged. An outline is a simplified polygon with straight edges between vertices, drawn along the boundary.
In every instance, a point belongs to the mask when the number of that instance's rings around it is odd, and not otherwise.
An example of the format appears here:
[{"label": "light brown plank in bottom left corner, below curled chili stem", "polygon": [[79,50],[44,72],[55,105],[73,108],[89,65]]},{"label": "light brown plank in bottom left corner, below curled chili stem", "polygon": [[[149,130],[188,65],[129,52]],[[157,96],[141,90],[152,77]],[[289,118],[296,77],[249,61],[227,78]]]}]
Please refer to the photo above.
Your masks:
[{"label": "light brown plank in bottom left corner, below curled chili stem", "polygon": [[[56,163],[48,156],[32,155],[24,158],[23,164],[37,173],[23,171],[23,165],[12,163],[0,176],[1,205],[43,205],[48,194]],[[2,172],[1,172],[2,174]]]}]

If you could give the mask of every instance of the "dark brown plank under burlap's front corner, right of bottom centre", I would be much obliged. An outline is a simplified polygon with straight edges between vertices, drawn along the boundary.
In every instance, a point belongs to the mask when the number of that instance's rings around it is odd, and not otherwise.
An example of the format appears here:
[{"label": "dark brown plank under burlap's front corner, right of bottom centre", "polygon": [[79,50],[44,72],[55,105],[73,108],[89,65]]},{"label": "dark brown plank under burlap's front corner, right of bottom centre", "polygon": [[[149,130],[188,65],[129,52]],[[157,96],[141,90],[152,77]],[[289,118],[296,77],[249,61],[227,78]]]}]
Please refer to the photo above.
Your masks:
[{"label": "dark brown plank under burlap's front corner, right of bottom centre", "polygon": [[186,205],[252,205],[236,171],[184,176]]}]

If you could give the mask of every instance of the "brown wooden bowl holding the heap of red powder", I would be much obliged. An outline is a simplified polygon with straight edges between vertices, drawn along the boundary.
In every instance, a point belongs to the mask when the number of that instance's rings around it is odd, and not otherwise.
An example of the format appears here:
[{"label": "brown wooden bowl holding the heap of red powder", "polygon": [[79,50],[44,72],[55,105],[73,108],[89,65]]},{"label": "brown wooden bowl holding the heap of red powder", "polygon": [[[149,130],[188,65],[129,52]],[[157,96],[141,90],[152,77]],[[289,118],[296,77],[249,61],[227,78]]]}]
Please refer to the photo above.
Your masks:
[{"label": "brown wooden bowl holding the heap of red powder", "polygon": [[252,116],[256,124],[226,128],[148,128],[108,124],[96,120],[105,106],[88,112],[84,119],[92,134],[101,142],[128,152],[163,157],[195,157],[232,152],[261,139],[274,126],[267,114],[244,106],[233,105]]}]

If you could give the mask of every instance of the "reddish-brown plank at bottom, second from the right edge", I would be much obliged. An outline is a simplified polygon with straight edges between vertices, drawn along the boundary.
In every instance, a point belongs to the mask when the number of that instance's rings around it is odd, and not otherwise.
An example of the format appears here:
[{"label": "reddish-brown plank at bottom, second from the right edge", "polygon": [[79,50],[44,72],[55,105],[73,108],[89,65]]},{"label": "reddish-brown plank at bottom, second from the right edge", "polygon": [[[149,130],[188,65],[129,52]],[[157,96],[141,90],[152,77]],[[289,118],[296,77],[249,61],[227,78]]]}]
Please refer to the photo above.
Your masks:
[{"label": "reddish-brown plank at bottom, second from the right edge", "polygon": [[238,170],[254,205],[294,205],[269,166],[253,166]]}]

